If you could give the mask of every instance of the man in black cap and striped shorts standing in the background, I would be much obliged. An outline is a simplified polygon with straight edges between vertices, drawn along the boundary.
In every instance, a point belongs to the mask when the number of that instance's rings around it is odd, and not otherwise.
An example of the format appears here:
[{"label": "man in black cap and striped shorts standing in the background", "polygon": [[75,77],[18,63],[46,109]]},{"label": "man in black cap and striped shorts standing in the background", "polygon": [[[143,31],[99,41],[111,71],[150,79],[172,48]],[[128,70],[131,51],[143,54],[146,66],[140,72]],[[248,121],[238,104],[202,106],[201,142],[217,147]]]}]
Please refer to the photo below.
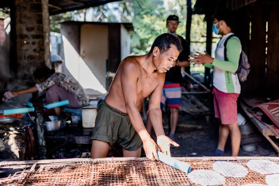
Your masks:
[{"label": "man in black cap and striped shorts standing in the background", "polygon": [[[165,83],[162,92],[161,107],[167,102],[170,107],[170,137],[174,137],[175,129],[178,122],[178,108],[181,107],[181,83],[182,74],[181,67],[188,67],[190,62],[188,61],[189,48],[186,40],[176,34],[176,29],[179,24],[178,16],[170,15],[166,20],[166,27],[168,33],[177,36],[181,40],[183,51],[179,54],[177,61],[173,64],[173,67],[166,72]],[[147,116],[146,128],[148,133],[151,133],[152,124]]]}]

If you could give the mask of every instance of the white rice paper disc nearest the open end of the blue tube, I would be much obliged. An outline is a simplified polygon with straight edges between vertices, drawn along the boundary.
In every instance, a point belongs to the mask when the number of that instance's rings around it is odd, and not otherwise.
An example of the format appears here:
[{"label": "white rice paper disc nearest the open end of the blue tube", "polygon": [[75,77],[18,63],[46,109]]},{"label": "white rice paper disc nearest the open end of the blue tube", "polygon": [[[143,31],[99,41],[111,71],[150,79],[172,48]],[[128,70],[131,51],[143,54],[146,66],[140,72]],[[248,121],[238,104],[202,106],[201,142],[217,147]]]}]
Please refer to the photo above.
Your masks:
[{"label": "white rice paper disc nearest the open end of the blue tube", "polygon": [[194,184],[206,185],[223,185],[226,182],[224,176],[220,175],[218,172],[213,170],[193,170],[188,174],[188,178]]}]

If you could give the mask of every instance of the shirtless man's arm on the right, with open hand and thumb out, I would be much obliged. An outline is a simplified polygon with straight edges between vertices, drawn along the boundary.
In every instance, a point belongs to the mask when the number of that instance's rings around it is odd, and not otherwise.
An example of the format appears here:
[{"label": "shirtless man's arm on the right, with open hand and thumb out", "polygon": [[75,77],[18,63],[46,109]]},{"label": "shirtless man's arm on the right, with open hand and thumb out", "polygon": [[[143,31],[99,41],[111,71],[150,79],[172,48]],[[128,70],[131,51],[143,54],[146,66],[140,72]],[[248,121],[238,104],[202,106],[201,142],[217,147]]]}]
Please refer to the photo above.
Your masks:
[{"label": "shirtless man's arm on the right, with open hand and thumb out", "polygon": [[162,123],[162,111],[160,108],[162,89],[165,81],[165,74],[161,74],[162,77],[159,79],[159,84],[152,92],[149,100],[149,117],[157,136],[157,145],[159,149],[170,156],[170,144],[178,147],[179,144],[175,143],[172,139],[165,135]]}]

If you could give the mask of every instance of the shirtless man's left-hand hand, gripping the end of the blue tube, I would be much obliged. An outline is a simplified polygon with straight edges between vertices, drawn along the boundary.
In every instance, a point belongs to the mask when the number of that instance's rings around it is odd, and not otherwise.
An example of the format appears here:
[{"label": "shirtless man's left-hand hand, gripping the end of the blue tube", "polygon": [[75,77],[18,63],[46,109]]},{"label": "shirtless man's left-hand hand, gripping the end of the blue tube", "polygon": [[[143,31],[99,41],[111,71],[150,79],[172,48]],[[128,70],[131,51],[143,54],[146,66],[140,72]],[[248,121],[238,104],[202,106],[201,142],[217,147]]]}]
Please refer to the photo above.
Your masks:
[{"label": "shirtless man's left-hand hand, gripping the end of the blue tube", "polygon": [[143,139],[142,142],[143,142],[143,147],[144,147],[144,152],[146,157],[151,161],[155,161],[155,159],[159,161],[157,155],[157,151],[159,151],[159,148],[157,147],[154,140],[151,139],[150,136],[148,136],[146,139]]}]

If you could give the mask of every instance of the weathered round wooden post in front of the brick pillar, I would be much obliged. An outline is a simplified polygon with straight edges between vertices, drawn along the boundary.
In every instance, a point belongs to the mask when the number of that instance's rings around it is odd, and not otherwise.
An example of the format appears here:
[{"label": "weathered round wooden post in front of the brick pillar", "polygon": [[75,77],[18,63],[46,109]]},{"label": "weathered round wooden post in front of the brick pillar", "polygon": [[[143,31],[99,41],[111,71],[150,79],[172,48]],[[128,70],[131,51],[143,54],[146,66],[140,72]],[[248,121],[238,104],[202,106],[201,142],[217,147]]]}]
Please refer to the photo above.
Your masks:
[{"label": "weathered round wooden post in front of the brick pillar", "polygon": [[50,53],[50,20],[48,12],[48,0],[42,0],[42,19],[44,29],[44,58],[45,64],[51,68],[51,53]]}]

